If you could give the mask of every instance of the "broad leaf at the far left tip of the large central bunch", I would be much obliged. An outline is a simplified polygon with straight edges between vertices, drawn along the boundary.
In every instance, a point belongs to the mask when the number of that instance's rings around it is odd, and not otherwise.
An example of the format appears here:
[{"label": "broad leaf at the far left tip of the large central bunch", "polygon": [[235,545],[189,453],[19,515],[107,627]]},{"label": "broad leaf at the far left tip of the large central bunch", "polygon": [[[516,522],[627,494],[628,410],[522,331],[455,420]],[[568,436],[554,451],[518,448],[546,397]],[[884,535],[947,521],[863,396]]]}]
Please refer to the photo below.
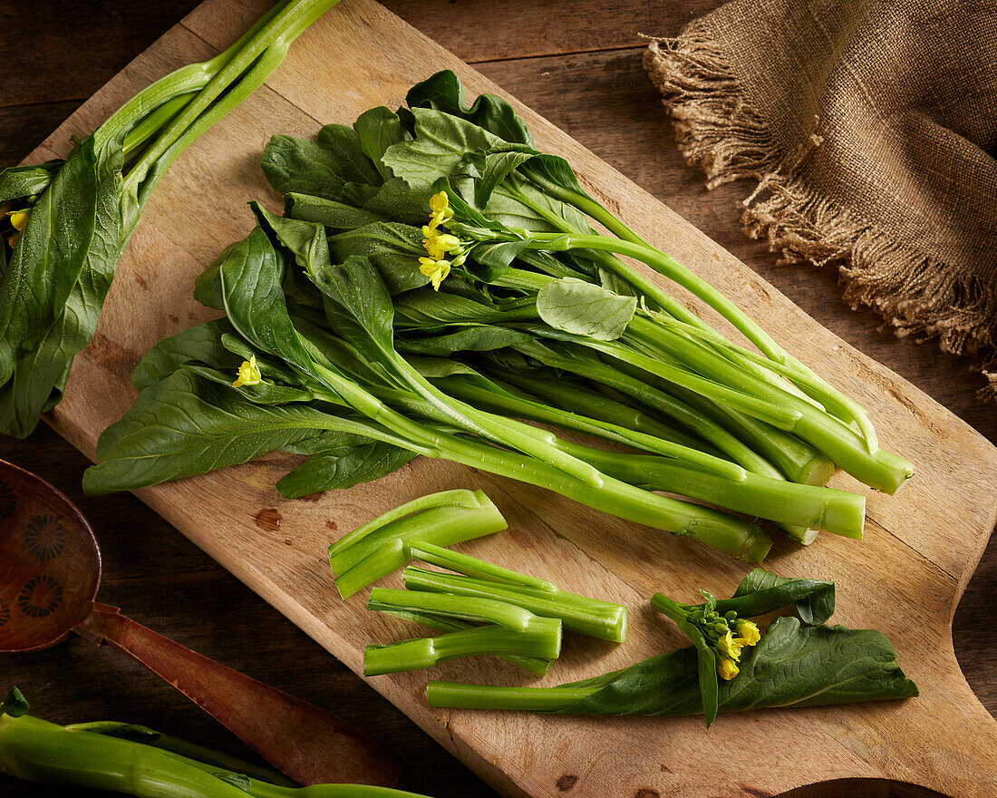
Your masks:
[{"label": "broad leaf at the far left tip of the large central bunch", "polygon": [[334,419],[302,404],[265,407],[180,369],[146,388],[97,443],[91,495],[134,490],[245,463],[314,435]]}]

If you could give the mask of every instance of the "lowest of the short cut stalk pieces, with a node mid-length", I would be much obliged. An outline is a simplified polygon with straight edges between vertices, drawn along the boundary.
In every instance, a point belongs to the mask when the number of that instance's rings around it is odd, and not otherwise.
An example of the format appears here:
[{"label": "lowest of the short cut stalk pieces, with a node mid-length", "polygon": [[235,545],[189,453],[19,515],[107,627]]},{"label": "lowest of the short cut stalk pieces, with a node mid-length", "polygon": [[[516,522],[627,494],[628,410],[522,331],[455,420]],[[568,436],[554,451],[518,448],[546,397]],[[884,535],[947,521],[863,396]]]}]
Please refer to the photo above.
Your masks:
[{"label": "lowest of the short cut stalk pieces, with a node mid-length", "polygon": [[463,656],[511,654],[556,659],[560,641],[561,623],[553,618],[534,616],[524,631],[510,631],[496,625],[476,626],[435,637],[368,645],[364,649],[364,675],[419,670]]}]

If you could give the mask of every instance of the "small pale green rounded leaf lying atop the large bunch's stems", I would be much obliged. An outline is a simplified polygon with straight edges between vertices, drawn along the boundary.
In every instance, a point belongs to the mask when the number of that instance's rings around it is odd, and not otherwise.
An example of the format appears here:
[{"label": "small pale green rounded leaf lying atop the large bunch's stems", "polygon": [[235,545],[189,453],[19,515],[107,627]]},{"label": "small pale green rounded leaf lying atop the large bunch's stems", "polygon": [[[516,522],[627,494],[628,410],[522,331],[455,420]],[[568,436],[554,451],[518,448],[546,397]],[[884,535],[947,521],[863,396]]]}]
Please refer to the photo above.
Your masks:
[{"label": "small pale green rounded leaf lying atop the large bunch's stems", "polygon": [[547,324],[597,341],[619,338],[636,309],[634,296],[571,277],[548,282],[536,294],[536,310]]}]

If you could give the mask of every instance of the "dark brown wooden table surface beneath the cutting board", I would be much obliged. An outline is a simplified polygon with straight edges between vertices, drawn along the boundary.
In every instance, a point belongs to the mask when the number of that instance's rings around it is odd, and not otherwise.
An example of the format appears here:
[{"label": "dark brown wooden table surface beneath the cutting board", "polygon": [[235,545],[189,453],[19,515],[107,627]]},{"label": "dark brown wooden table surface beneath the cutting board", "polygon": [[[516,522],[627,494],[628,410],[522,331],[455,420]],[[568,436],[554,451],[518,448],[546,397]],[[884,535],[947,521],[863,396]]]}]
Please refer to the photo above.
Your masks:
[{"label": "dark brown wooden table surface beneath the cutting board", "polygon": [[[196,4],[49,0],[0,7],[0,61],[5,65],[0,167],[19,163]],[[850,310],[840,299],[831,269],[778,265],[765,243],[741,232],[737,201],[746,188],[727,186],[707,193],[701,176],[685,166],[660,98],[641,68],[644,45],[638,34],[675,34],[719,5],[716,0],[384,4],[706,231],[835,334],[997,443],[997,407],[976,399],[981,379],[968,359],[941,354],[931,344],[897,339],[879,329],[871,312]],[[357,724],[397,755],[409,774],[410,789],[441,798],[495,794],[139,500],[131,495],[83,496],[80,476],[88,463],[50,429],[43,425],[26,441],[0,440],[0,458],[55,484],[91,520],[104,555],[101,600]],[[995,596],[997,543],[992,542],[954,621],[963,671],[992,714],[997,713]],[[128,720],[248,755],[238,740],[165,682],[114,649],[98,649],[80,638],[33,654],[0,654],[0,690],[9,684],[18,684],[37,713],[51,720]],[[0,777],[0,794],[65,794],[21,784],[14,790],[12,781]]]}]

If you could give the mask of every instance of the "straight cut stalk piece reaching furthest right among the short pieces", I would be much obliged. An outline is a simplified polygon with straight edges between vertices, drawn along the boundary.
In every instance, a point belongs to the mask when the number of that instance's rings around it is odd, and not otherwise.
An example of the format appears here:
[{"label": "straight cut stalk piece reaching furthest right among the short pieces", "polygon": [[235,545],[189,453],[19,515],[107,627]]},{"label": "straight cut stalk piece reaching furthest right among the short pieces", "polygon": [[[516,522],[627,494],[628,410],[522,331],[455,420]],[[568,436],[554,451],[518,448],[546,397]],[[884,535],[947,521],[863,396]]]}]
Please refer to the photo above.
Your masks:
[{"label": "straight cut stalk piece reaching furthest right among the short pieces", "polygon": [[491,580],[441,574],[416,566],[402,573],[410,591],[454,594],[468,601],[507,601],[535,615],[560,618],[565,629],[613,642],[626,639],[627,611],[623,604],[525,586],[501,585]]}]

